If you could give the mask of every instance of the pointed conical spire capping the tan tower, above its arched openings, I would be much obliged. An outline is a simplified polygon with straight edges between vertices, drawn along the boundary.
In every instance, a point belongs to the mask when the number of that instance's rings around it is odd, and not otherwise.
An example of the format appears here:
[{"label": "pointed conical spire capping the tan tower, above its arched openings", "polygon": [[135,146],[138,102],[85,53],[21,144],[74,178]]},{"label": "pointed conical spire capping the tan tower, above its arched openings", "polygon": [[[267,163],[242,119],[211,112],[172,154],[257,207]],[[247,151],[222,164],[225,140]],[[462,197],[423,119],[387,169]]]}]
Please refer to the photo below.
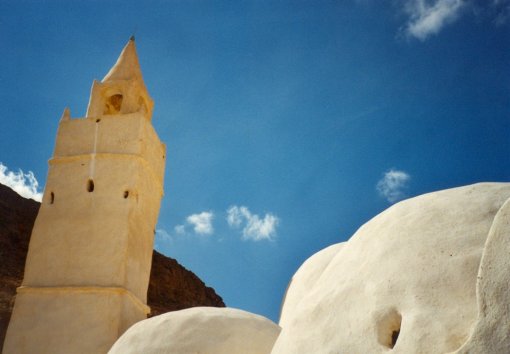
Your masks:
[{"label": "pointed conical spire capping the tan tower, above its arched openings", "polygon": [[110,69],[108,74],[101,82],[114,81],[114,80],[132,80],[142,79],[142,70],[138,62],[138,55],[136,54],[135,37],[131,36],[128,43],[120,53],[119,59],[115,65]]}]

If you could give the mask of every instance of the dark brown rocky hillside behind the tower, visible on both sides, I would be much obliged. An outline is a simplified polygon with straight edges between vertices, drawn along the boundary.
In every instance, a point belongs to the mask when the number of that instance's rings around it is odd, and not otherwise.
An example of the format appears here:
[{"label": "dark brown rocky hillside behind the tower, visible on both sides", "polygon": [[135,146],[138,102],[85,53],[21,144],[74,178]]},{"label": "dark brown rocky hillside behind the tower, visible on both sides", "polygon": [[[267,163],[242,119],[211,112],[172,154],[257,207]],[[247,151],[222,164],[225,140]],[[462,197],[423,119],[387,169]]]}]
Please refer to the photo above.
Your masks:
[{"label": "dark brown rocky hillside behind the tower, visible on both sides", "polygon": [[[0,184],[0,349],[21,284],[28,243],[39,203],[19,196]],[[149,283],[151,315],[194,306],[225,307],[214,289],[175,259],[154,251]]]}]

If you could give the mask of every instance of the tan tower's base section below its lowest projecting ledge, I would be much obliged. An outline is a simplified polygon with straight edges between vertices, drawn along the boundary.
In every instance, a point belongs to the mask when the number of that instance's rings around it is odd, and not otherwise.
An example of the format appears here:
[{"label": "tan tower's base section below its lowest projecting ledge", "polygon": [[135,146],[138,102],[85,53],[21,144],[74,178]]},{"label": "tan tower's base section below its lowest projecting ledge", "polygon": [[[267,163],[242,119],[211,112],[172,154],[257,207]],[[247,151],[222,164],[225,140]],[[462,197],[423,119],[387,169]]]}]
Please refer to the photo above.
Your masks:
[{"label": "tan tower's base section below its lowest projecting ledge", "polygon": [[107,353],[149,307],[116,287],[19,287],[4,354]]}]

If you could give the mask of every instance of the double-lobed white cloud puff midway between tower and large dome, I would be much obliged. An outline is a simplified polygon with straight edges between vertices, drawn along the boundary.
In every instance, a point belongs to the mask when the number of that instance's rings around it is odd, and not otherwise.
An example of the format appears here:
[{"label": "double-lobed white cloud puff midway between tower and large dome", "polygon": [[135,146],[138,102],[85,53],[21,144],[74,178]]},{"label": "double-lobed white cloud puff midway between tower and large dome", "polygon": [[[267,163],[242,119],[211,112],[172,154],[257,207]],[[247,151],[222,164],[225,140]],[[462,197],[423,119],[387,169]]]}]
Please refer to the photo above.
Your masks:
[{"label": "double-lobed white cloud puff midway between tower and large dome", "polygon": [[227,210],[229,226],[233,228],[243,226],[244,240],[272,240],[276,236],[276,227],[279,221],[278,217],[270,213],[261,219],[257,214],[252,214],[245,206],[234,205]]}]

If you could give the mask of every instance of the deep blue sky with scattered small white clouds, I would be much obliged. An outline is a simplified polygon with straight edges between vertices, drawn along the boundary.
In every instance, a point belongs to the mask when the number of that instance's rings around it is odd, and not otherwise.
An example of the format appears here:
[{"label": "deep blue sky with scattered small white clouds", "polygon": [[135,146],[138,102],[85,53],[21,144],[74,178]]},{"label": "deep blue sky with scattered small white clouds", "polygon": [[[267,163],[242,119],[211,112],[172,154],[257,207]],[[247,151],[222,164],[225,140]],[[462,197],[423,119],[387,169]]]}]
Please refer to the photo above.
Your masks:
[{"label": "deep blue sky with scattered small white clouds", "polygon": [[299,265],[392,203],[510,179],[510,0],[4,0],[0,183],[43,189],[64,107],[132,34],[157,249],[231,307],[277,321]]}]

